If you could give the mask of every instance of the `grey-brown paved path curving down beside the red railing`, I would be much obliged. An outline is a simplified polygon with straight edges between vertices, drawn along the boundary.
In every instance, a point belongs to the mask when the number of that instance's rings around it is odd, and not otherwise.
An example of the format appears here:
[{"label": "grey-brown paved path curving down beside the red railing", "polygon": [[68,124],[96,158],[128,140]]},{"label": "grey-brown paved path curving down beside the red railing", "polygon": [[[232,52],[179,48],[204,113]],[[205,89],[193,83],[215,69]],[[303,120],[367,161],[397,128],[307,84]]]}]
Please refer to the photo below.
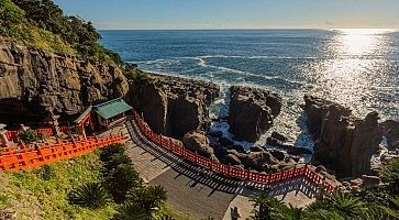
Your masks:
[{"label": "grey-brown paved path curving down beside the red railing", "polygon": [[[110,132],[123,132],[129,138],[128,153],[141,176],[149,185],[163,186],[168,193],[168,205],[193,219],[230,220],[233,207],[239,207],[241,219],[247,219],[254,211],[250,196],[266,187],[229,179],[192,165],[147,140],[131,121]],[[303,177],[268,187],[271,196],[298,207],[312,202],[315,194]]]}]

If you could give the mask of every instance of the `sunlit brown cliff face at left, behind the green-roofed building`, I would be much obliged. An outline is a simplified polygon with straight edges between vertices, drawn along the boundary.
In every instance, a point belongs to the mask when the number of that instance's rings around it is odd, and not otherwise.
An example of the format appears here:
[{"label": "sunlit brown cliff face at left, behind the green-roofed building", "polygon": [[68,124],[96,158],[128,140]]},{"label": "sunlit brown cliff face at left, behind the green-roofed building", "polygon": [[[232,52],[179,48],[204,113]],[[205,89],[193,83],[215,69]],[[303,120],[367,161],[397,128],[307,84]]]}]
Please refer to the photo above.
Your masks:
[{"label": "sunlit brown cliff face at left, behind the green-roofed building", "polygon": [[115,65],[79,61],[0,41],[0,118],[4,123],[68,117],[129,89]]}]

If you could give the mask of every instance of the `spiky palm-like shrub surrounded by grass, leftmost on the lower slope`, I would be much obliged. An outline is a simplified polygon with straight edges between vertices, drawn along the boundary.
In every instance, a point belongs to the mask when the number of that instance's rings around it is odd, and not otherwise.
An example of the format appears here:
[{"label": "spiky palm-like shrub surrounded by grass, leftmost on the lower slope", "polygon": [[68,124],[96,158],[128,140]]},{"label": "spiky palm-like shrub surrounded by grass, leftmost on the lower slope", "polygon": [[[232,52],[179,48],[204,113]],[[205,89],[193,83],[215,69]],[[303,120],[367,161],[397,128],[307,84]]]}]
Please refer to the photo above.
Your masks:
[{"label": "spiky palm-like shrub surrounded by grass, leftmost on the lower slope", "polygon": [[78,187],[69,194],[69,202],[90,209],[98,209],[109,202],[109,196],[99,183]]}]

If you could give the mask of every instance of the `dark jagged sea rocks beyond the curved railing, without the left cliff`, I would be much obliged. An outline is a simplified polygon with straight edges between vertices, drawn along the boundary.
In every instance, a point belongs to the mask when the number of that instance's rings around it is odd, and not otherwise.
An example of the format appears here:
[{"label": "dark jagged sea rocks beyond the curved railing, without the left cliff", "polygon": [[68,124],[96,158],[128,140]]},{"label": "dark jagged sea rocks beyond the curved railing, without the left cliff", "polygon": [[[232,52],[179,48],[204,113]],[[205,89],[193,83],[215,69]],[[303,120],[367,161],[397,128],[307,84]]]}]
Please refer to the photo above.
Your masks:
[{"label": "dark jagged sea rocks beyond the curved railing, without the left cliff", "polygon": [[[275,150],[253,146],[245,151],[237,144],[239,141],[255,142],[273,127],[284,99],[277,94],[232,86],[228,123],[233,139],[230,139],[220,131],[209,130],[209,108],[219,97],[218,85],[158,74],[147,76],[147,84],[131,84],[132,105],[154,131],[182,141],[200,155],[242,168],[274,173],[299,165],[301,155],[313,154],[309,148],[289,144],[277,132],[267,138],[267,144]],[[381,150],[383,136],[387,138],[390,150],[399,145],[398,122],[379,123],[376,112],[358,119],[347,108],[311,96],[304,97],[303,111],[315,143],[311,164],[334,182],[335,175],[362,177],[367,182],[376,175],[370,160]],[[381,158],[396,155],[389,151]]]}]

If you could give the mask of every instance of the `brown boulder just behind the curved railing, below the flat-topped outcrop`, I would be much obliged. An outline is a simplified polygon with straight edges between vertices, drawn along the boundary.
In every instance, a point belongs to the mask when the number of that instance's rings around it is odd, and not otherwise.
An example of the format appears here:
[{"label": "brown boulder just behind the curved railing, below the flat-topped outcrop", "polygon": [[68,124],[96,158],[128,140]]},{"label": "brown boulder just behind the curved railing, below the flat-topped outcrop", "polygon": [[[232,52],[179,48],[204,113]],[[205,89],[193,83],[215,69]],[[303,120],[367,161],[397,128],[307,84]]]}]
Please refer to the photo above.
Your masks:
[{"label": "brown boulder just behind the curved railing, below the flat-topped outcrop", "polygon": [[191,131],[188,132],[184,139],[182,144],[186,148],[198,153],[204,157],[211,157],[213,155],[213,148],[209,146],[209,140],[203,132]]}]

